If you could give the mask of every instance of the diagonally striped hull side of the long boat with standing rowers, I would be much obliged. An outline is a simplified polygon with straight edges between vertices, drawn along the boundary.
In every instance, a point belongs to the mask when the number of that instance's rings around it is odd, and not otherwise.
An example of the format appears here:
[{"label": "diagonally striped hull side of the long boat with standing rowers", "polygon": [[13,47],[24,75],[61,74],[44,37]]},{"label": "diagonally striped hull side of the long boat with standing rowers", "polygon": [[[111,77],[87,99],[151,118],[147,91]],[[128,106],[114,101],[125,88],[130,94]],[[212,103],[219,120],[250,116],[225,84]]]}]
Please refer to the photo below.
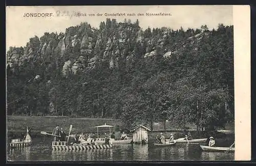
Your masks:
[{"label": "diagonally striped hull side of the long boat with standing rowers", "polygon": [[110,149],[112,147],[112,145],[52,146],[52,150],[86,151],[92,149]]}]

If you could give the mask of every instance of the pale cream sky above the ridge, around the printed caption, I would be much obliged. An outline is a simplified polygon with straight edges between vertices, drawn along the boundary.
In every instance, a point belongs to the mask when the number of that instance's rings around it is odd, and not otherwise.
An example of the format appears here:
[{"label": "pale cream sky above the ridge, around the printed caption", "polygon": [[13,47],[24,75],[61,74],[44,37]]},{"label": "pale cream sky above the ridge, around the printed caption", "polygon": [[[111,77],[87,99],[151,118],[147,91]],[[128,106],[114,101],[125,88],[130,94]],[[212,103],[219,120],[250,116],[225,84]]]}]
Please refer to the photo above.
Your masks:
[{"label": "pale cream sky above the ridge, around the printed caption", "polygon": [[[61,16],[68,12],[87,13],[87,16]],[[170,13],[171,16],[137,16],[138,13]],[[52,17],[24,17],[25,13],[52,13]],[[103,14],[102,16],[89,16],[89,13]],[[135,13],[135,16],[104,16],[104,13]],[[31,37],[39,38],[45,32],[63,32],[66,28],[81,22],[88,22],[92,27],[99,27],[100,21],[106,18],[116,19],[118,22],[124,18],[135,22],[139,20],[140,27],[145,30],[148,26],[170,27],[174,30],[198,28],[206,24],[209,29],[217,28],[219,23],[233,25],[232,6],[221,5],[175,5],[175,6],[9,6],[6,7],[6,48],[10,46],[25,46]]]}]

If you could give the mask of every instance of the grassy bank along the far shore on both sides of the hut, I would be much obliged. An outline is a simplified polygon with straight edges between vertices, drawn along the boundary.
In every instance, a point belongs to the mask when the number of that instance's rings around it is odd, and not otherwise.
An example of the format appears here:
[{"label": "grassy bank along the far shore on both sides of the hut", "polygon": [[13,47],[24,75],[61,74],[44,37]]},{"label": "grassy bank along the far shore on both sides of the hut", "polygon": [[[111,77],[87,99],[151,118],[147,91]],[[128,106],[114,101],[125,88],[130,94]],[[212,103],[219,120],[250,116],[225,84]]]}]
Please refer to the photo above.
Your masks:
[{"label": "grassy bank along the far shore on both sides of the hut", "polygon": [[[108,124],[115,126],[112,130],[119,130],[125,126],[121,126],[121,121],[114,119],[101,119],[101,118],[69,118],[69,117],[27,117],[27,116],[8,116],[7,127],[8,127],[8,139],[23,137],[26,131],[26,127],[31,127],[31,136],[44,136],[40,134],[40,131],[46,131],[52,133],[56,125],[63,127],[66,133],[69,132],[69,127],[72,124],[72,134],[83,132],[83,133],[97,133],[95,126]],[[154,124],[153,131],[148,132],[148,141],[153,143],[155,137],[163,132],[163,125]],[[177,130],[170,122],[166,123],[166,132],[163,132],[166,138],[170,137],[170,133],[173,133],[175,139],[184,137],[182,130]],[[223,134],[220,132],[209,132],[209,131],[196,131],[194,128],[190,128],[189,131],[193,135],[194,139],[208,138],[214,136],[220,146],[231,145],[234,140],[233,134]],[[100,128],[99,132],[109,132],[109,128]],[[128,131],[129,132],[129,131]],[[128,134],[132,137],[132,134]]]}]

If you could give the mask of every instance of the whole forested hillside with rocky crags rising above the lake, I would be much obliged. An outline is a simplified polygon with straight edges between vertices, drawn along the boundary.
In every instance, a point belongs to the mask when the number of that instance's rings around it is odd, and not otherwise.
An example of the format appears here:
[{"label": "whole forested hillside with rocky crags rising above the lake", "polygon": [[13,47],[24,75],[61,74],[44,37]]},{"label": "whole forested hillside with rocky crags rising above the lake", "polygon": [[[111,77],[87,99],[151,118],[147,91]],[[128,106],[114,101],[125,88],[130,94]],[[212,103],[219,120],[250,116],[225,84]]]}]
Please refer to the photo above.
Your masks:
[{"label": "whole forested hillside with rocky crags rising above the lake", "polygon": [[233,78],[233,26],[84,22],[9,48],[7,113],[222,127],[234,118]]}]

